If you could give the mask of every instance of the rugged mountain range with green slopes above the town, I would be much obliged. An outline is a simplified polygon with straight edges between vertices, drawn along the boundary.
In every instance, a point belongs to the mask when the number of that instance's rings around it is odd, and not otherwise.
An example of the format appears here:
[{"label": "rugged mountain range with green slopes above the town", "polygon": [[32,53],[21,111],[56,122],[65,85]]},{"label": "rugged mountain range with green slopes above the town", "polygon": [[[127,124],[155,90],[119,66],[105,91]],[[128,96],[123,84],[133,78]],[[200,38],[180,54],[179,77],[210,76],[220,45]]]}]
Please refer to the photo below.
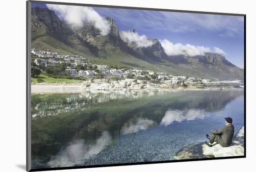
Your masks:
[{"label": "rugged mountain range with green slopes above the town", "polygon": [[91,23],[72,26],[61,20],[52,10],[33,7],[31,12],[32,47],[59,54],[81,55],[96,64],[128,66],[142,70],[162,71],[188,77],[234,80],[244,79],[244,70],[235,66],[222,54],[168,56],[159,40],[147,37],[150,46],[137,46],[120,32],[112,18],[105,17],[110,32],[101,35]]}]

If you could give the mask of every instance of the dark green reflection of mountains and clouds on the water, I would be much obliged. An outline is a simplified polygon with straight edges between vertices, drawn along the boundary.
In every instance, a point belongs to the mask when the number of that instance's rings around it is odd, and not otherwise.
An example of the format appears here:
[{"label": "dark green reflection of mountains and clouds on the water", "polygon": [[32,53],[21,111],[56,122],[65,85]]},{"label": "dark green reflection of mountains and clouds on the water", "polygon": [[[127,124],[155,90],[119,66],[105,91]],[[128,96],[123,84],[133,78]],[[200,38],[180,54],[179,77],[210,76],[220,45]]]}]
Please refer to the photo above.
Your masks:
[{"label": "dark green reflection of mountains and clouds on the water", "polygon": [[68,166],[82,165],[106,146],[115,145],[120,134],[203,119],[242,95],[243,91],[36,94],[32,97],[32,114],[36,114],[32,120],[32,162],[38,168],[61,166],[67,161]]}]

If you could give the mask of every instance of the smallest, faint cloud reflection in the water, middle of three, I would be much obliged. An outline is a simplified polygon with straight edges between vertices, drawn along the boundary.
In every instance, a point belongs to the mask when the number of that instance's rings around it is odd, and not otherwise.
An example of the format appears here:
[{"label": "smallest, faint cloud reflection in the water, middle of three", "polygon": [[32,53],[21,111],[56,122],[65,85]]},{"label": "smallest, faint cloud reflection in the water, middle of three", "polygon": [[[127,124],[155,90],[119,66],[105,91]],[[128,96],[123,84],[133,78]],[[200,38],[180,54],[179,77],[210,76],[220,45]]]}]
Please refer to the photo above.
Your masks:
[{"label": "smallest, faint cloud reflection in the water, middle of three", "polygon": [[138,119],[136,124],[131,124],[130,126],[123,126],[121,133],[131,134],[140,130],[147,130],[149,126],[151,126],[153,123],[154,121],[150,119]]}]

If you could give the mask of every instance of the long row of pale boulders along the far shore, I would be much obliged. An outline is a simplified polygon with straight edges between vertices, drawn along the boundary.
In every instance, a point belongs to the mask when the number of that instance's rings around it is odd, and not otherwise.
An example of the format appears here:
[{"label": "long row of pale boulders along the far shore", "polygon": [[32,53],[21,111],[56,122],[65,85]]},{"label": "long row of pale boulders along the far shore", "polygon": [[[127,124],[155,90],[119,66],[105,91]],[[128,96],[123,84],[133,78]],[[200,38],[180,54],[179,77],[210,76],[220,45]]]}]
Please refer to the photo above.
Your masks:
[{"label": "long row of pale boulders along the far shore", "polygon": [[166,80],[161,83],[153,83],[151,81],[139,79],[123,79],[117,81],[109,81],[108,79],[94,79],[86,81],[83,85],[88,90],[136,90],[136,89],[184,89],[184,88],[203,88],[202,85],[181,86],[173,83],[172,80]]}]

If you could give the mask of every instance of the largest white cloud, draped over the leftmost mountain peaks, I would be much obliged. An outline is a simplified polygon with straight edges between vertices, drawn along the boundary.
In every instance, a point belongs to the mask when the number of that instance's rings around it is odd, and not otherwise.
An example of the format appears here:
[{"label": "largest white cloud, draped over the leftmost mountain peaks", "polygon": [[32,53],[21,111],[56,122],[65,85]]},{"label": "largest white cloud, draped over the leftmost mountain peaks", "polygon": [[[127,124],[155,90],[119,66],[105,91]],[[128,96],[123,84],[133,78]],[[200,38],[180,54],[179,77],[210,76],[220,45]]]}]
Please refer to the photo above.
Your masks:
[{"label": "largest white cloud, draped over the leftmost mountain peaks", "polygon": [[110,32],[110,24],[102,18],[92,7],[66,6],[47,4],[47,7],[54,10],[57,15],[75,26],[83,26],[84,22],[92,23],[95,28],[101,31],[101,35]]}]

